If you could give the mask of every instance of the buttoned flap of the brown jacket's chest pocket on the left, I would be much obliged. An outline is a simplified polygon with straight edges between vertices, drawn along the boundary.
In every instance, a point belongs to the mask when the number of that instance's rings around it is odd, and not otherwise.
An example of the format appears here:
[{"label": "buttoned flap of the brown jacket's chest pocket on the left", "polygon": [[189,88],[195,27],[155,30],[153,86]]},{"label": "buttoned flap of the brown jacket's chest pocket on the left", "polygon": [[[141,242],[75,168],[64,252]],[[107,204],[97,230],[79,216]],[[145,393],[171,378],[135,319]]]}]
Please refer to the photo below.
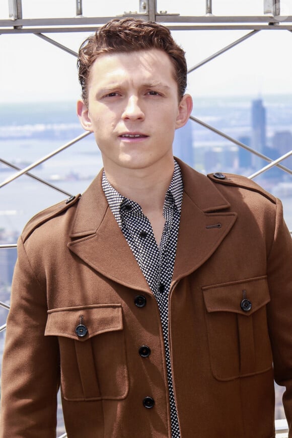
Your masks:
[{"label": "buttoned flap of the brown jacket's chest pocket on the left", "polygon": [[[80,324],[86,327],[86,335],[77,335],[76,328]],[[45,336],[64,336],[85,341],[101,333],[122,329],[121,304],[65,307],[48,311]]]}]

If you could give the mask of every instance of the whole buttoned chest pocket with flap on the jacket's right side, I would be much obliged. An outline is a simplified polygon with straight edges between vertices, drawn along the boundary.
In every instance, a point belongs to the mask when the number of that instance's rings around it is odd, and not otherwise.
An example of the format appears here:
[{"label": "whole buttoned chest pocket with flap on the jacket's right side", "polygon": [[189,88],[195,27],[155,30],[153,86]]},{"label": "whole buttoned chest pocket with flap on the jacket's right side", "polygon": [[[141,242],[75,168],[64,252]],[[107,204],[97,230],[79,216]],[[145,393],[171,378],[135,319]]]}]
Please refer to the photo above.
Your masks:
[{"label": "whole buttoned chest pocket with flap on the jacket's right side", "polygon": [[213,376],[225,381],[269,370],[266,276],[202,289]]}]

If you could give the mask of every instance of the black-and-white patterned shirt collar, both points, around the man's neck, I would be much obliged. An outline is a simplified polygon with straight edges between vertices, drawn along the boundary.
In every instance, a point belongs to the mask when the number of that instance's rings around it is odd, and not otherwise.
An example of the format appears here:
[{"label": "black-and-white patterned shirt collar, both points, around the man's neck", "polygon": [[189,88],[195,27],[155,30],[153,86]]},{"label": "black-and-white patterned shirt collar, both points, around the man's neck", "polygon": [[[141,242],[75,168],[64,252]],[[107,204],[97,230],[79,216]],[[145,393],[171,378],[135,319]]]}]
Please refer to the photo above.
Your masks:
[{"label": "black-and-white patterned shirt collar, both points, around the man's neck", "polygon": [[[129,203],[134,210],[139,209],[141,211],[141,207],[131,199],[122,196],[108,181],[105,172],[103,171],[102,175],[102,188],[105,194],[105,197],[108,201],[109,207],[119,225],[122,228],[122,217],[121,214],[121,206],[125,205],[125,203]],[[177,210],[180,212],[183,198],[183,180],[181,175],[181,170],[176,161],[174,161],[174,172],[172,176],[171,183],[165,195],[165,206],[169,206],[169,204],[174,205]],[[124,208],[123,208],[124,211]]]}]

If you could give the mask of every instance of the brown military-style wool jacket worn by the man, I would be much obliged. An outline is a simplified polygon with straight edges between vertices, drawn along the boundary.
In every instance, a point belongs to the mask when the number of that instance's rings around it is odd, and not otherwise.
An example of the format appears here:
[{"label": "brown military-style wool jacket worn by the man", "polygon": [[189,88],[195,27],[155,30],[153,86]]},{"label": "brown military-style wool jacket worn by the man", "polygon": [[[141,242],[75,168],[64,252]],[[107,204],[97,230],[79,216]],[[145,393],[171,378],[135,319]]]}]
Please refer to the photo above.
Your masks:
[{"label": "brown military-style wool jacket worn by the man", "polygon": [[[281,203],[244,177],[179,164],[169,340],[181,438],[273,437],[274,378],[292,420],[292,245]],[[55,437],[59,381],[68,438],[170,438],[158,306],[101,174],[81,198],[37,214],[18,250],[1,438]]]}]

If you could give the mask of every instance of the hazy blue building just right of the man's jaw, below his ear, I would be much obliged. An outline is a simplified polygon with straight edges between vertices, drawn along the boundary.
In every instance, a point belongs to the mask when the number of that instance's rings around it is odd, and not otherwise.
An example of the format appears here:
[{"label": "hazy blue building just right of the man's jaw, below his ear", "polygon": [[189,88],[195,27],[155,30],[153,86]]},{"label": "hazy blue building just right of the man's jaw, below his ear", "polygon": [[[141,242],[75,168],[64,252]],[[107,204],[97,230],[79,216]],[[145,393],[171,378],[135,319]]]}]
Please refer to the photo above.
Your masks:
[{"label": "hazy blue building just right of the man's jaw, below his ear", "polygon": [[189,166],[194,167],[193,123],[188,120],[182,128],[176,129],[173,141],[173,154]]}]

